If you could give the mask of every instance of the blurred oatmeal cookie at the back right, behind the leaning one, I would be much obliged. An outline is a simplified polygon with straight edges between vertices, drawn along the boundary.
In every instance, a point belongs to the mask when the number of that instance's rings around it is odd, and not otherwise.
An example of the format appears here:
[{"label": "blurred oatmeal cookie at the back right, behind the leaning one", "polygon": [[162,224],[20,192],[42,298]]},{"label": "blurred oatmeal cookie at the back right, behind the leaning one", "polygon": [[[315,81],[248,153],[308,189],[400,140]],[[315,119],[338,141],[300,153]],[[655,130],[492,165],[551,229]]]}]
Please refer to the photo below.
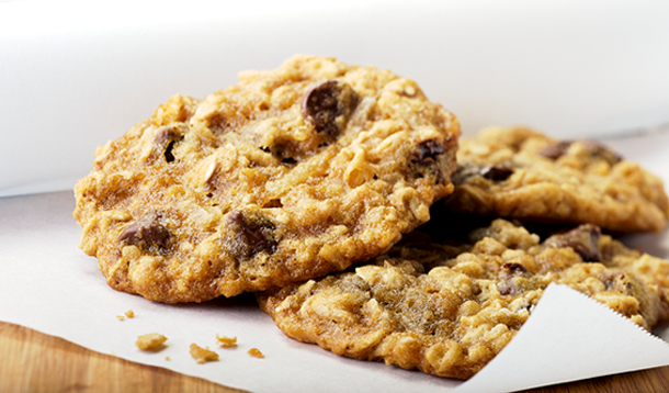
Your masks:
[{"label": "blurred oatmeal cookie at the back right, behind the leaning one", "polygon": [[528,128],[462,138],[446,209],[546,223],[592,223],[623,234],[658,232],[669,216],[662,181],[592,141]]}]

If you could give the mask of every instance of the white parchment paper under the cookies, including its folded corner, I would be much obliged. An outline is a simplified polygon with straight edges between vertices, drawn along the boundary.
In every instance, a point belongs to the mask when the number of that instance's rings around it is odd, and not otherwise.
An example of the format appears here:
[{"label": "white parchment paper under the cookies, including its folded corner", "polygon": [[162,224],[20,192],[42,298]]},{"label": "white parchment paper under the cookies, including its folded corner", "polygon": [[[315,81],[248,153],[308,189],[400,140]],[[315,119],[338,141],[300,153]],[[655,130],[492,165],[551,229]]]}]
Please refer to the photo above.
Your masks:
[{"label": "white parchment paper under the cookies, including its folded corner", "polygon": [[[669,146],[669,134],[610,143],[669,177],[669,160],[660,148]],[[511,344],[464,384],[341,358],[285,337],[250,295],[167,305],[111,290],[97,260],[77,248],[80,228],[71,217],[73,206],[69,191],[0,199],[0,321],[252,392],[509,392],[669,364],[666,341],[557,285],[546,291]],[[669,256],[667,232],[625,240]],[[116,318],[128,310],[135,312],[134,318]],[[166,335],[166,348],[139,351],[135,340],[147,333]],[[216,334],[236,336],[238,347],[218,348]],[[195,363],[189,355],[191,343],[215,349],[220,360]],[[250,348],[260,349],[265,358],[247,355]]]}]

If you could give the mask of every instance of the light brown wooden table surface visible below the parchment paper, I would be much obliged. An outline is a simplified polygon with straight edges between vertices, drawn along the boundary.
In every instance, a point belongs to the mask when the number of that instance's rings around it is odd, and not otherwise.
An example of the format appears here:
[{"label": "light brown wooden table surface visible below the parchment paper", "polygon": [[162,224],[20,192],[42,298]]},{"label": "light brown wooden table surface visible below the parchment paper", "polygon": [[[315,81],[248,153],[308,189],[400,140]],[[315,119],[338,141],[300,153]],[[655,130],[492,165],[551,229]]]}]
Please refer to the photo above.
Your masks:
[{"label": "light brown wooden table surface visible below the parchment paper", "polygon": [[[238,393],[199,378],[91,351],[0,322],[0,392]],[[669,392],[669,367],[602,377],[525,393]]]}]

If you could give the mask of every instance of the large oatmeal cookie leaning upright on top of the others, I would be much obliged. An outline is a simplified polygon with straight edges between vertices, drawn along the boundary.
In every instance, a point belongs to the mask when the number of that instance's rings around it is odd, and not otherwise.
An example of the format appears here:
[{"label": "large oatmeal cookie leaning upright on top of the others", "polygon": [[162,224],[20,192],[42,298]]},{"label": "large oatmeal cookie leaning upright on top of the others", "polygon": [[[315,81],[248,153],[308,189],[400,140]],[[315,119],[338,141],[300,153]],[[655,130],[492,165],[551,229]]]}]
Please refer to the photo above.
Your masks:
[{"label": "large oatmeal cookie leaning upright on top of the others", "polygon": [[112,288],[167,303],[343,270],[429,220],[458,135],[410,79],[296,56],[98,148],[80,247]]}]

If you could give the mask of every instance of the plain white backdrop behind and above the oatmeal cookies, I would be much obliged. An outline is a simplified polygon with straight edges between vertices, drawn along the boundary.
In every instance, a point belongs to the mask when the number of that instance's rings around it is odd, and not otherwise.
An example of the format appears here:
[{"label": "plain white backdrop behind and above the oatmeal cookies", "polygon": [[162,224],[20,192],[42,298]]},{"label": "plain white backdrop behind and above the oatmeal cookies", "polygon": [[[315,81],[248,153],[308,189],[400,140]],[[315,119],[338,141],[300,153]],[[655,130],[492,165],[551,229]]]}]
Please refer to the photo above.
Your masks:
[{"label": "plain white backdrop behind and above the oatmeal cookies", "polygon": [[415,79],[462,121],[602,136],[669,122],[666,1],[0,3],[0,196],[71,189],[174,93],[296,54]]}]

